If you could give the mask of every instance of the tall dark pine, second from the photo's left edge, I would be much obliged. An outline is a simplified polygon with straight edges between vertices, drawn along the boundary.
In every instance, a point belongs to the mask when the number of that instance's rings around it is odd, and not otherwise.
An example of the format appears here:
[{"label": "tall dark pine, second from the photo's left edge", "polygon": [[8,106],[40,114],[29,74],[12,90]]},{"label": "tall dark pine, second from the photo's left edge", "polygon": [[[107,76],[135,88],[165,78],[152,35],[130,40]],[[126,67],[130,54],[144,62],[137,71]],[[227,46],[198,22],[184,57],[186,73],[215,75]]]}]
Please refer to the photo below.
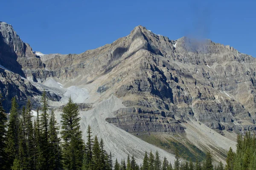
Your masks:
[{"label": "tall dark pine, second from the photo's left edge", "polygon": [[19,130],[19,113],[18,104],[16,98],[12,98],[12,107],[10,110],[9,124],[7,130],[7,144],[6,144],[6,154],[8,155],[7,168],[14,162],[14,159],[18,156],[18,130]]}]

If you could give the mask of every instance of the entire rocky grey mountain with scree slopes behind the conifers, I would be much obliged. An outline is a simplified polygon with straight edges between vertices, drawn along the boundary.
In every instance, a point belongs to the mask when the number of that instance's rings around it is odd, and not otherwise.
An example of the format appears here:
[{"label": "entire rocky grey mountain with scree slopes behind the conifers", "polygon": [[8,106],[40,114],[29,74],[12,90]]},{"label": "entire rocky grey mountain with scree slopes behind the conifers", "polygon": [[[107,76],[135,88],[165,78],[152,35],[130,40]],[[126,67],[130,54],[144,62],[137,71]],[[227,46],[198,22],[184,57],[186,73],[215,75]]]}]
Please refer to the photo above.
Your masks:
[{"label": "entire rocky grey mountain with scree slopes behind the conifers", "polygon": [[[160,150],[174,160],[224,160],[236,134],[256,131],[256,59],[229,45],[169,40],[143,26],[82,54],[42,54],[0,23],[0,91],[5,108],[16,96],[37,107],[47,91],[58,120],[67,98],[78,103],[81,127],[91,125],[121,159]],[[4,69],[6,68],[6,69]],[[23,77],[23,78],[22,78]],[[166,152],[167,151],[167,152]]]}]

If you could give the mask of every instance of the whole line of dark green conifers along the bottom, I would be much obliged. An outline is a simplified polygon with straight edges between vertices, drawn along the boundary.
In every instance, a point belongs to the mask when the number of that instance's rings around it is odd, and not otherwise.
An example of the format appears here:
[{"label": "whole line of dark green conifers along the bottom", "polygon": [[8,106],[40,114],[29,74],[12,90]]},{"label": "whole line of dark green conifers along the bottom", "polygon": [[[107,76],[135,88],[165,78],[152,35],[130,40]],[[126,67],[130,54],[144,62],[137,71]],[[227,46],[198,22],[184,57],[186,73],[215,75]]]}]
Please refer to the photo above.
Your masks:
[{"label": "whole line of dark green conifers along the bottom", "polygon": [[225,166],[222,162],[213,165],[210,152],[202,162],[182,161],[177,149],[173,164],[166,157],[162,162],[158,152],[145,152],[139,165],[134,156],[113,161],[113,155],[104,149],[103,139],[92,136],[90,126],[84,141],[79,109],[71,98],[62,110],[61,126],[48,107],[45,91],[34,122],[30,101],[19,109],[14,97],[9,122],[2,101],[0,97],[1,170],[256,170],[256,137],[250,133],[238,135],[237,151],[230,148]]}]

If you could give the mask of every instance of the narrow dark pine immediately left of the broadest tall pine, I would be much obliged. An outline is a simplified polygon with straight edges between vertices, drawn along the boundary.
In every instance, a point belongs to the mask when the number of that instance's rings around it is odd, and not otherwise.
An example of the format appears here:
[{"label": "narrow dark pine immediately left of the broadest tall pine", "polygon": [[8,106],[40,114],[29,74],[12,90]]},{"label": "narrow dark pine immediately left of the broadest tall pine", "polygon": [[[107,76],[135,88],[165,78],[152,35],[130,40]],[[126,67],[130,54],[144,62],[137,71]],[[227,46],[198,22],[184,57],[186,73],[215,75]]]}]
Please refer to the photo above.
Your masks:
[{"label": "narrow dark pine immediately left of the broadest tall pine", "polygon": [[58,137],[59,127],[55,119],[54,111],[51,110],[49,120],[49,169],[61,170],[61,139]]}]

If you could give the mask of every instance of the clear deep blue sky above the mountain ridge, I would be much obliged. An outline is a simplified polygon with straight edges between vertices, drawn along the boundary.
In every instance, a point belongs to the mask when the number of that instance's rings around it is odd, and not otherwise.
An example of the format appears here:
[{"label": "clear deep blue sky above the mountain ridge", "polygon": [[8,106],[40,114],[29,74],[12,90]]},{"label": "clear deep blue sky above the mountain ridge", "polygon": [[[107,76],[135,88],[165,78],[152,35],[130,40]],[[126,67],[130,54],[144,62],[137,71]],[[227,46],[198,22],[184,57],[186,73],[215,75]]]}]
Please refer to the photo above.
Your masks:
[{"label": "clear deep blue sky above the mountain ridge", "polygon": [[2,0],[0,21],[44,54],[82,53],[142,25],[171,40],[208,38],[256,57],[255,0]]}]

